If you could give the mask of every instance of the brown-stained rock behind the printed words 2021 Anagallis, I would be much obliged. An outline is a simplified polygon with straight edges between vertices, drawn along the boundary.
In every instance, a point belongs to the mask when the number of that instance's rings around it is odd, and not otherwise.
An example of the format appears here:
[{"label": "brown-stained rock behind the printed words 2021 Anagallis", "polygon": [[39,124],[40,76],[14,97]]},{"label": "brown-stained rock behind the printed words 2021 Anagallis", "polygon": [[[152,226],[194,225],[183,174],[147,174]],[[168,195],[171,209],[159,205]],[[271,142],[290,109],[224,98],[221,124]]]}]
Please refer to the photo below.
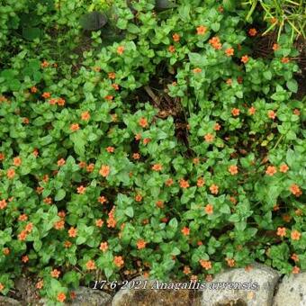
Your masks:
[{"label": "brown-stained rock behind the printed words 2021 Anagallis", "polygon": [[141,288],[144,287],[145,282],[148,283],[146,289],[119,290],[112,299],[112,306],[201,305],[199,301],[196,301],[197,293],[193,290],[151,289],[157,281],[148,281],[142,276],[132,279],[129,284],[133,284],[132,282],[138,282]]}]

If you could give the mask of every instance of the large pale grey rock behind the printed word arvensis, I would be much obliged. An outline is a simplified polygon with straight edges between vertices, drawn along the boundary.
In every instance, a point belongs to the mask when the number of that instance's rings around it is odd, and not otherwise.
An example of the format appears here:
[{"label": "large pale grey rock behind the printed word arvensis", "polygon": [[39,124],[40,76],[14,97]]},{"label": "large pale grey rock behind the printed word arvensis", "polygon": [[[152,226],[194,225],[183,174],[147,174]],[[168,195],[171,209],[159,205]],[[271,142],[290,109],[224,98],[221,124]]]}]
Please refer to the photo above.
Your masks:
[{"label": "large pale grey rock behind the printed word arvensis", "polygon": [[[230,269],[215,275],[211,283],[206,283],[206,288],[202,290],[202,306],[270,306],[279,277],[280,274],[274,269],[259,264],[252,265],[249,271],[244,268]],[[215,286],[220,286],[216,283],[225,283],[228,287],[216,289]],[[229,284],[235,285],[233,283],[238,283],[236,286],[248,283],[250,289],[230,287]]]}]

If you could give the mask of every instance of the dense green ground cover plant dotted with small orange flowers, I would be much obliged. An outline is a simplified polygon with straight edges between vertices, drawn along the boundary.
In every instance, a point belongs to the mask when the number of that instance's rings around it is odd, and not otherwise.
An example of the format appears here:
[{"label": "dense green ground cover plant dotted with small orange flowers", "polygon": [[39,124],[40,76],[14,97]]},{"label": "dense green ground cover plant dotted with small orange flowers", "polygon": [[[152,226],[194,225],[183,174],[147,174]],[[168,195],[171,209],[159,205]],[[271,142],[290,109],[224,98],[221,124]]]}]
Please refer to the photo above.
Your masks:
[{"label": "dense green ground cover plant dotted with small orange flowers", "polygon": [[249,12],[1,2],[0,293],[306,269],[299,52],[283,27],[258,55],[271,21]]}]

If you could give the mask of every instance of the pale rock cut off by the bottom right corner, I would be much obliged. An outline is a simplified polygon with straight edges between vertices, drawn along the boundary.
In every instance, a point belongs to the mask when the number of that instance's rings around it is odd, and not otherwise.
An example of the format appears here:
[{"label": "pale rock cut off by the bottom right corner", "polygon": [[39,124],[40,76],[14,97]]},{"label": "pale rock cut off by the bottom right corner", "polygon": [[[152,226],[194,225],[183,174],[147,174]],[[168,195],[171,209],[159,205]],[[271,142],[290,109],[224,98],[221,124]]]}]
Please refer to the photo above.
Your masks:
[{"label": "pale rock cut off by the bottom right corner", "polygon": [[273,306],[306,305],[306,273],[284,276],[275,293]]}]

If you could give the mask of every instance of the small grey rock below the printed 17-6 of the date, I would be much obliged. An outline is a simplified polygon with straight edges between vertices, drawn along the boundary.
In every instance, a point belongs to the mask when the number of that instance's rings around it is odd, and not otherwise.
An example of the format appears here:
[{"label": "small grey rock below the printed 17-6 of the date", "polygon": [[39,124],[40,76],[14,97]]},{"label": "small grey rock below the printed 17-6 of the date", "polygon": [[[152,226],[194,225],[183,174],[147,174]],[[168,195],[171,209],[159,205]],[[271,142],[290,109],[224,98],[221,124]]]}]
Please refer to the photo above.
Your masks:
[{"label": "small grey rock below the printed 17-6 of the date", "polygon": [[75,290],[76,298],[69,305],[73,306],[106,306],[110,304],[111,295],[100,290],[87,287],[78,287]]}]

